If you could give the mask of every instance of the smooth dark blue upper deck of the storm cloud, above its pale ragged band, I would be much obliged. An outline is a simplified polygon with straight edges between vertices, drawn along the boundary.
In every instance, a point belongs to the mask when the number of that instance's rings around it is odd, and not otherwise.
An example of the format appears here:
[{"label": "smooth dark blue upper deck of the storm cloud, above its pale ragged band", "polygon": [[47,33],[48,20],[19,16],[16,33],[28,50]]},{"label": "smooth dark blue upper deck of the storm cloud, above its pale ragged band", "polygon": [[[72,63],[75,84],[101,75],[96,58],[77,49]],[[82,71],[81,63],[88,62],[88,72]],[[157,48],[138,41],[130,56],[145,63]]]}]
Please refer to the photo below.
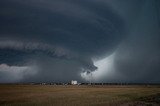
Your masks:
[{"label": "smooth dark blue upper deck of the storm cloud, above its pale ragged band", "polygon": [[122,36],[122,19],[98,2],[2,2],[1,36],[16,34],[16,38],[43,40],[92,56],[103,53],[103,47],[111,49]]}]

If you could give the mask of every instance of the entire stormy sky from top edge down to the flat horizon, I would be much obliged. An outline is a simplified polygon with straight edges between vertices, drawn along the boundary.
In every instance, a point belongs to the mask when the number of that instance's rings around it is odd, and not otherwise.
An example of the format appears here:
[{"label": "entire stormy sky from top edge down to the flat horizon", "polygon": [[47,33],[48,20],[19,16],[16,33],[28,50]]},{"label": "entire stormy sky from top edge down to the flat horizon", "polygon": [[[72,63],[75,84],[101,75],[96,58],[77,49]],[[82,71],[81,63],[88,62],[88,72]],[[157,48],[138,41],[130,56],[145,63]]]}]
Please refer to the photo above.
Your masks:
[{"label": "entire stormy sky from top edge down to the flat horizon", "polygon": [[159,0],[0,0],[0,83],[160,83]]}]

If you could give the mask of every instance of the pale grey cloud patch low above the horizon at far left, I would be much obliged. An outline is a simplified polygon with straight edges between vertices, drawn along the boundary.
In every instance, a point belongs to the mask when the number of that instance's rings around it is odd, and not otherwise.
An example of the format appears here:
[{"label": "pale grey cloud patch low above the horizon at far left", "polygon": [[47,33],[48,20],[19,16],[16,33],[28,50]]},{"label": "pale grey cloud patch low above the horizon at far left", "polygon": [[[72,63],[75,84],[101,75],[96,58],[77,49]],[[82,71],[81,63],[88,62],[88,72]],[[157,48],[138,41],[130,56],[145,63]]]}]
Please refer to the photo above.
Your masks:
[{"label": "pale grey cloud patch low above the horizon at far left", "polygon": [[0,64],[0,83],[19,82],[25,77],[34,76],[36,73],[36,67]]}]

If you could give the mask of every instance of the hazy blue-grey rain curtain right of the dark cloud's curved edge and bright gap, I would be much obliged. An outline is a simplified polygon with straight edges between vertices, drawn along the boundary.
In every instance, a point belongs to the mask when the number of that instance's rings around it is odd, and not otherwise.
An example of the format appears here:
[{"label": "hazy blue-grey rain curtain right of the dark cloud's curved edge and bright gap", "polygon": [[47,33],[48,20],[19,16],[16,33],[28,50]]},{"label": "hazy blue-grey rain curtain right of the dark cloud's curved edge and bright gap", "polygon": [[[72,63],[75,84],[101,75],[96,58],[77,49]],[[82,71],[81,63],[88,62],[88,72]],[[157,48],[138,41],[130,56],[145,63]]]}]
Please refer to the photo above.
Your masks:
[{"label": "hazy blue-grey rain curtain right of the dark cloud's curved edge and bright gap", "polygon": [[[127,23],[128,33],[115,51],[115,73],[101,81],[160,82],[160,2],[159,0],[114,0]],[[106,73],[107,75],[107,73]]]}]

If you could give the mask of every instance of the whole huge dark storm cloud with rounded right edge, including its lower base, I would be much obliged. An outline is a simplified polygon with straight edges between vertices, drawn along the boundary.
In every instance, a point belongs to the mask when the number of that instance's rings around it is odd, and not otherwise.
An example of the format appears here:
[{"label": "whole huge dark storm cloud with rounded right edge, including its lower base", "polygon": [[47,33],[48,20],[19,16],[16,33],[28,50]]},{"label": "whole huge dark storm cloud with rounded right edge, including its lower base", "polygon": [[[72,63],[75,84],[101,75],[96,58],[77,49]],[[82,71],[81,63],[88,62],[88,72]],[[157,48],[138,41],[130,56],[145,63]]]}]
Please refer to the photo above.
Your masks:
[{"label": "whole huge dark storm cloud with rounded right edge, including its lower base", "polygon": [[1,64],[39,67],[24,81],[80,79],[125,36],[124,20],[98,0],[1,0],[0,22]]}]

